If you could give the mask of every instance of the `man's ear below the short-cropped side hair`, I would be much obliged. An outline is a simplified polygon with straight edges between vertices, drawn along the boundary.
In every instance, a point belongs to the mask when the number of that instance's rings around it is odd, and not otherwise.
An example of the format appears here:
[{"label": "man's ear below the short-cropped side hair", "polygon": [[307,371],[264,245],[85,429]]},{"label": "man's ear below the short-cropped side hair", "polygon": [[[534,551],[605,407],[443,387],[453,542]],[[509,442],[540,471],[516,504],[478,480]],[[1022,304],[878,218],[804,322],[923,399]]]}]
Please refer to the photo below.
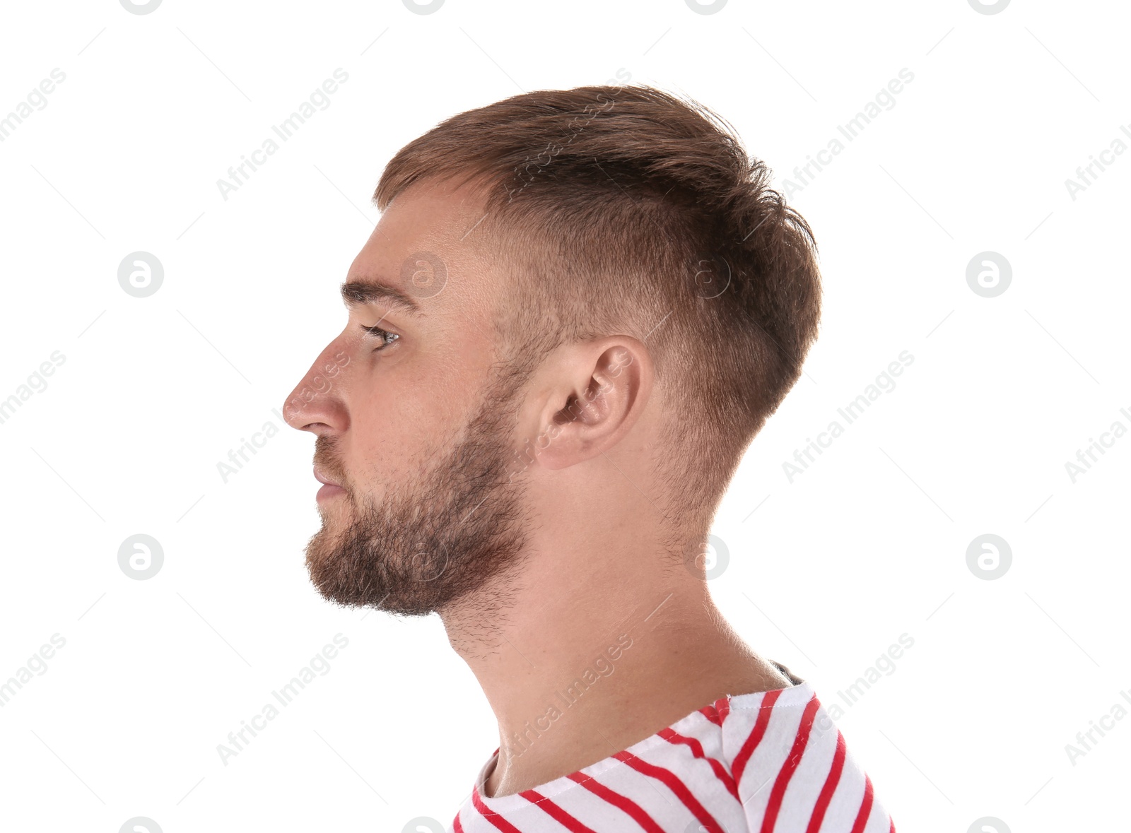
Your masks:
[{"label": "man's ear below the short-cropped side hair", "polygon": [[563,346],[545,374],[526,422],[526,459],[554,470],[619,443],[644,411],[655,372],[641,341],[608,336]]}]

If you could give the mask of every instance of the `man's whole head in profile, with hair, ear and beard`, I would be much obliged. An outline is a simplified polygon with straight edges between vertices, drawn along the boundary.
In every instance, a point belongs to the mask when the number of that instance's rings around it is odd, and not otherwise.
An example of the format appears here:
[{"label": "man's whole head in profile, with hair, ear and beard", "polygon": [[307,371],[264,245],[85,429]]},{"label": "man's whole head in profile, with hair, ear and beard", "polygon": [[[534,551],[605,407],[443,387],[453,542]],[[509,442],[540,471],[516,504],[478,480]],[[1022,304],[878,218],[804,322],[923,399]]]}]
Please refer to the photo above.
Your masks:
[{"label": "man's whole head in profile, with hair, ear and beard", "polygon": [[342,486],[308,547],[321,592],[423,614],[499,587],[618,444],[657,540],[705,535],[817,333],[812,235],[768,182],[649,87],[524,94],[405,146],[311,370],[333,380],[285,406]]}]

